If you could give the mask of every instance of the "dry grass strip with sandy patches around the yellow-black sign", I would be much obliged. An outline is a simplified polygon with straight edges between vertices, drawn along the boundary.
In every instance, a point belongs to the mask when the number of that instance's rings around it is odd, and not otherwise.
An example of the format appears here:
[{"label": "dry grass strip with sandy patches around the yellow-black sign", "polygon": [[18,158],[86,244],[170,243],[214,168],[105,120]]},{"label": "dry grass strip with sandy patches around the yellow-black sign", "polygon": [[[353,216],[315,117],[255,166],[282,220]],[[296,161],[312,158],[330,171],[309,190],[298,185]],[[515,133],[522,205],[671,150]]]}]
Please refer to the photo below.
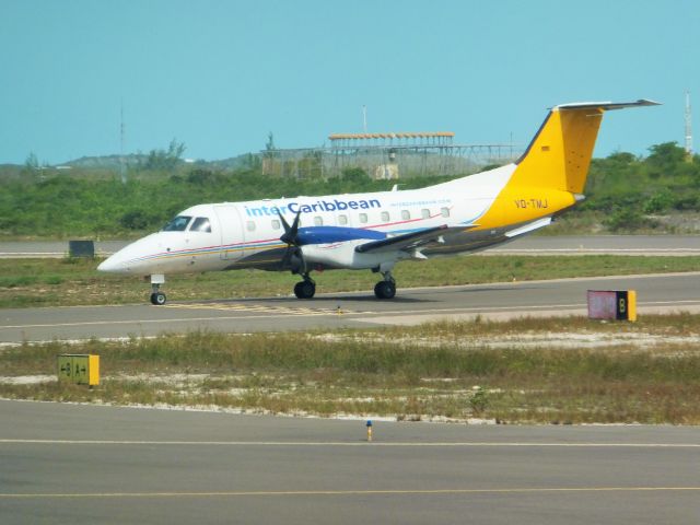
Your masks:
[{"label": "dry grass strip with sandy patches around the yellow-black sign", "polygon": [[[101,355],[98,387],[59,353]],[[700,316],[51,342],[0,349],[0,396],[288,415],[700,424]],[[28,383],[28,384],[26,384]]]}]

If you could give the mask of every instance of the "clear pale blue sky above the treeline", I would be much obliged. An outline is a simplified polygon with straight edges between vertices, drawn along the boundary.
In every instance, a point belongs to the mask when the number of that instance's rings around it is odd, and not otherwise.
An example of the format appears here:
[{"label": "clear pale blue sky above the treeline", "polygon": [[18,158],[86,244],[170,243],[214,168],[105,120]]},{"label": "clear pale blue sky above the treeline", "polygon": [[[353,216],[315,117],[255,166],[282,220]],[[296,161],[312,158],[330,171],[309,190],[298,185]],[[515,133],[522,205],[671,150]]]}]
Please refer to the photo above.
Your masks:
[{"label": "clear pale blue sky above the treeline", "polygon": [[369,131],[527,143],[552,105],[645,97],[595,150],[645,154],[700,107],[699,27],[697,0],[0,0],[0,163],[118,153],[121,103],[127,152],[214,160],[362,131],[363,105]]}]

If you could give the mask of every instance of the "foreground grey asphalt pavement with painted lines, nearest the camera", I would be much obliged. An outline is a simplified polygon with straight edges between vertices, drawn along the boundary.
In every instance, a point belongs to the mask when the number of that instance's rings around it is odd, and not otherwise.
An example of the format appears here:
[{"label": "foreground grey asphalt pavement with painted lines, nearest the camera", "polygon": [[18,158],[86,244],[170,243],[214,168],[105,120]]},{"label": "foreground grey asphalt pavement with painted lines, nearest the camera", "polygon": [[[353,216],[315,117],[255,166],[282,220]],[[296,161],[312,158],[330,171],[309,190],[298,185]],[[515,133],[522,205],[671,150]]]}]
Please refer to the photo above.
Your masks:
[{"label": "foreground grey asphalt pavement with painted lines, nearest the camera", "polygon": [[700,429],[287,419],[0,401],[24,523],[697,523]]}]

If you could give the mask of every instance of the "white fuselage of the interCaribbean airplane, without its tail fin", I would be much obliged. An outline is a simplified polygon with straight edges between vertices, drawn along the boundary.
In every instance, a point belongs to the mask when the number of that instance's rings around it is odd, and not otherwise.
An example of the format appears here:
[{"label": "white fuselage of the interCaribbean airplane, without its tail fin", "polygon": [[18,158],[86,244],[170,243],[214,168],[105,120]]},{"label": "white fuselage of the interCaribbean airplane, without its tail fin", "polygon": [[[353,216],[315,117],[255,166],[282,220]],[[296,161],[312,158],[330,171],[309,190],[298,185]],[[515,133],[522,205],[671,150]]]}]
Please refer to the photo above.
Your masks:
[{"label": "white fuselage of the interCaribbean airplane, without its tail fin", "polygon": [[[508,228],[551,215],[575,202],[570,194],[552,195],[546,188],[497,199],[513,168],[509,164],[415,190],[198,205],[178,214],[186,218],[184,230],[161,231],[137,241],[120,252],[118,258],[110,259],[110,265],[136,275],[246,267],[275,269],[279,262],[277,250],[287,247],[280,241],[283,230],[279,213],[290,221],[300,213],[301,228],[335,226],[389,236],[446,225],[440,242],[421,253],[448,255],[506,241]],[[494,207],[500,210],[500,224],[479,224],[479,219]],[[502,222],[508,213],[512,218]],[[205,219],[209,226],[203,231],[192,229],[198,219]],[[476,235],[478,231],[483,234]],[[329,242],[323,242],[322,237],[313,247],[304,248],[304,257],[313,269],[376,268],[386,260],[385,254],[354,252],[354,246],[365,242],[366,236],[342,242],[336,237]],[[260,257],[261,254],[270,257]],[[410,253],[397,253],[394,260],[407,258],[411,258]]]}]

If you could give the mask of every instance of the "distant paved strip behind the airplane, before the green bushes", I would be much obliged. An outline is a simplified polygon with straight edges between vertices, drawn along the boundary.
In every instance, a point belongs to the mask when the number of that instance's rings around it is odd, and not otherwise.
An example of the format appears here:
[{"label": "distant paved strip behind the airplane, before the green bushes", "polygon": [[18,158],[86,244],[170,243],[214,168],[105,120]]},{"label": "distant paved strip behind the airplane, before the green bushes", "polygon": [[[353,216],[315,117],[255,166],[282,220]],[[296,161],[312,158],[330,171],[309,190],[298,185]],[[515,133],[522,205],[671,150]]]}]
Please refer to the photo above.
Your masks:
[{"label": "distant paved strip behind the airplane, before the green bushes", "polygon": [[[112,255],[127,241],[96,241],[98,256]],[[68,241],[0,243],[0,258],[65,257]],[[557,235],[526,236],[482,252],[483,255],[700,255],[700,235]]]}]

